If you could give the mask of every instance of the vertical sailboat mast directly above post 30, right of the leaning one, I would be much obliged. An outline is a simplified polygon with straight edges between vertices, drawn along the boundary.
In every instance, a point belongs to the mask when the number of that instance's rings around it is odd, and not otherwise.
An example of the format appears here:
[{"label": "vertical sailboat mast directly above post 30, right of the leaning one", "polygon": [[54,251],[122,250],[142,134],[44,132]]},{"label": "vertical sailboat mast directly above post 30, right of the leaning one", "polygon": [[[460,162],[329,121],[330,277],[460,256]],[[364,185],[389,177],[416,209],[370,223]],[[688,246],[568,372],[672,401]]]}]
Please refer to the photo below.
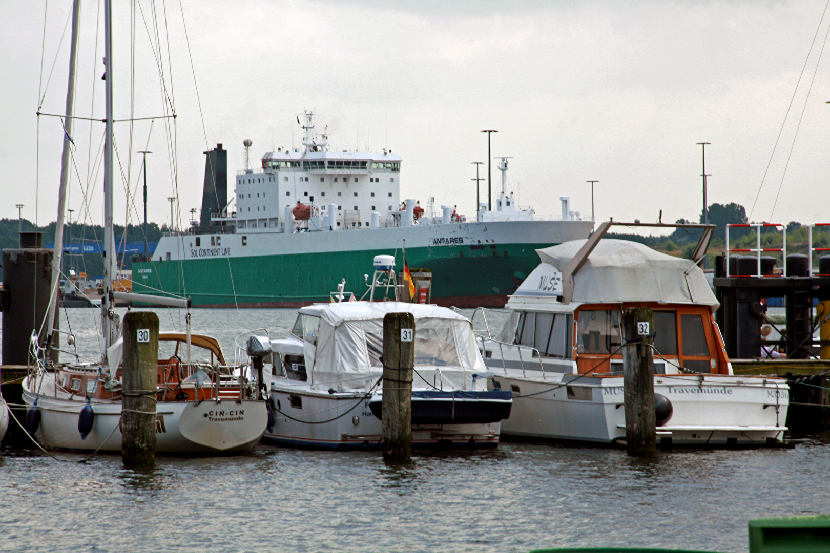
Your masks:
[{"label": "vertical sailboat mast directly above post 30, right of the leaning one", "polygon": [[104,138],[104,297],[101,312],[104,326],[104,344],[115,342],[115,298],[112,281],[115,278],[115,236],[113,235],[113,119],[112,119],[112,1],[104,0],[104,67],[105,67],[105,138]]}]

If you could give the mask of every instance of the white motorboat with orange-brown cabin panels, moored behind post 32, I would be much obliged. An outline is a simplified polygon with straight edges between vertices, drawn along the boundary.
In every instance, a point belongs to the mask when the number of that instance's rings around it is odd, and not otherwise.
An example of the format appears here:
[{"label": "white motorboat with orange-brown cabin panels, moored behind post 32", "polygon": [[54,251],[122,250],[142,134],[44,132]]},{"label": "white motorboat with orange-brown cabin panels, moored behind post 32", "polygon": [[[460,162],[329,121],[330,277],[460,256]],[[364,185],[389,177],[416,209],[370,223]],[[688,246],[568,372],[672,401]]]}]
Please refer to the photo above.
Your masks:
[{"label": "white motorboat with orange-brown cabin panels, moored behind post 32", "polygon": [[[789,386],[736,375],[715,323],[719,303],[693,259],[602,238],[537,250],[500,332],[478,332],[489,371],[513,392],[507,439],[613,445],[625,439],[621,313],[654,311],[657,439],[663,446],[782,444]],[[705,243],[703,243],[705,242]],[[480,320],[486,312],[474,313]]]}]

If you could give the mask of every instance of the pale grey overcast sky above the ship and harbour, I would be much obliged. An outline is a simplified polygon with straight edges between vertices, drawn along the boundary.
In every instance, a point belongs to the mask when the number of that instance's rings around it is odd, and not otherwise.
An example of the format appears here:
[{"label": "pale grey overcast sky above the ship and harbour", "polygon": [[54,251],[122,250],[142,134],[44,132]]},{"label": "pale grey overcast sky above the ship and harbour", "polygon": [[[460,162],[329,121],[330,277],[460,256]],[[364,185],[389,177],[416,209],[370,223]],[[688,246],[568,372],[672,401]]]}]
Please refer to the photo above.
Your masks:
[{"label": "pale grey overcast sky above the ship and harbour", "polygon": [[[99,2],[82,3],[76,115],[100,118]],[[126,119],[132,4],[114,3],[115,117]],[[590,215],[585,181],[597,179],[598,220],[657,221],[660,210],[664,221],[696,218],[696,143],[702,141],[711,143],[710,202],[736,201],[749,212],[825,5],[181,0],[180,8],[177,0],[155,0],[154,27],[153,2],[140,0],[134,117],[164,114],[168,102],[178,118],[174,128],[157,119],[152,132],[149,121],[137,122],[131,146],[129,124],[118,124],[123,177],[116,187],[116,221],[125,221],[125,179],[134,192],[140,164],[134,152],[145,145],[154,152],[148,156],[149,220],[170,218],[174,150],[168,144],[177,148],[178,195],[187,218],[200,206],[205,149],[216,143],[228,149],[232,185],[243,167],[242,141],[253,141],[251,158],[258,166],[272,146],[299,143],[295,115],[303,109],[319,115],[320,131],[328,125],[335,148],[399,153],[401,197],[422,205],[435,196],[437,205],[457,204],[459,212],[473,213],[471,162],[487,161],[480,131],[498,129],[492,153],[513,157],[510,188],[537,214],[558,213],[564,195],[574,210]],[[17,217],[14,205],[22,203],[23,215],[41,224],[56,218],[61,128],[59,119],[41,117],[38,142],[38,90],[42,112],[63,112],[70,32],[62,42],[61,35],[71,1],[48,2],[45,41],[44,7],[42,1],[0,2],[0,216]],[[100,19],[102,25],[102,14]],[[816,70],[828,25],[830,13],[752,213],[756,221],[830,221],[830,105],[824,104],[830,100],[830,56]],[[161,43],[168,99],[149,34],[154,48]],[[86,221],[100,223],[102,177],[95,178],[88,160],[95,160],[103,125],[91,127],[91,138],[89,122],[76,122],[73,132],[70,207],[73,219],[83,212]],[[495,163],[493,172],[495,191]],[[87,214],[82,188],[89,182]],[[140,192],[135,200],[131,222],[139,222]]]}]

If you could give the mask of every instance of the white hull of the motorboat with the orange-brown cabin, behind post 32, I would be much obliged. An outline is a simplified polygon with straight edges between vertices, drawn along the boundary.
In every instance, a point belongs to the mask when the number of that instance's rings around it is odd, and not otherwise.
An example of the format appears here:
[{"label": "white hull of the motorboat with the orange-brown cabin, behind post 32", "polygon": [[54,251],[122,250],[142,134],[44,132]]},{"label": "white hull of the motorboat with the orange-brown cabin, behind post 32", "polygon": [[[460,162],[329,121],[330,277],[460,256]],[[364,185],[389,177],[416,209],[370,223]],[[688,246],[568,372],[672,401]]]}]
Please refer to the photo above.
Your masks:
[{"label": "white hull of the motorboat with the orange-brown cabin, behind post 32", "polygon": [[[502,390],[514,392],[510,418],[501,423],[505,439],[604,445],[625,439],[622,376],[582,377],[560,386],[574,375],[525,374],[496,373]],[[767,445],[780,443],[787,430],[789,386],[781,379],[659,375],[654,391],[673,408],[671,419],[657,427],[663,444]]]}]

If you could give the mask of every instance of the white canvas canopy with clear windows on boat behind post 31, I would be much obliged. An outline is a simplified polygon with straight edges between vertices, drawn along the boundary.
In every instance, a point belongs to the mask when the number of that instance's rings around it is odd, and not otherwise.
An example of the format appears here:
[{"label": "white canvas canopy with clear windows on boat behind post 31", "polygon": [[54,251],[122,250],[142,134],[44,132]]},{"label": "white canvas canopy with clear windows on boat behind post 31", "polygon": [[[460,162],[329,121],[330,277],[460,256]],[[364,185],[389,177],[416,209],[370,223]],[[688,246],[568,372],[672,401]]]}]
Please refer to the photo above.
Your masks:
[{"label": "white canvas canopy with clear windows on boat behind post 31", "polygon": [[316,347],[304,347],[311,385],[354,390],[380,376],[383,316],[396,312],[415,317],[413,386],[424,387],[428,381],[437,387],[470,389],[471,376],[486,371],[472,323],[451,309],[398,302],[333,303],[300,309],[300,314],[320,318]]}]

